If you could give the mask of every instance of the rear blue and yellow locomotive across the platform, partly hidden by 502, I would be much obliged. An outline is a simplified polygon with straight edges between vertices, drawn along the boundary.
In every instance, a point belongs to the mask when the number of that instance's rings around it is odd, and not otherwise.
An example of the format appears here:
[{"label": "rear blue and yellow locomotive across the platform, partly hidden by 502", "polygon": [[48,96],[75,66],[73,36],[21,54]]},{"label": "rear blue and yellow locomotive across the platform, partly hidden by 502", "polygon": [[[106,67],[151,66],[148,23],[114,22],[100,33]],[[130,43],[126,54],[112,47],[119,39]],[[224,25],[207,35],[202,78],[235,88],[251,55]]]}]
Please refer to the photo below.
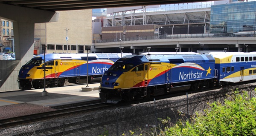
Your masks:
[{"label": "rear blue and yellow locomotive across the platform, partly hidden by 502", "polygon": [[[128,55],[123,53],[122,56]],[[45,54],[46,86],[63,86],[65,82],[85,83],[88,76],[90,79],[99,79],[102,74],[121,57],[116,54]],[[22,90],[31,88],[44,88],[44,54],[32,58],[23,65],[19,71],[17,81]],[[89,81],[90,82],[90,81]]]}]

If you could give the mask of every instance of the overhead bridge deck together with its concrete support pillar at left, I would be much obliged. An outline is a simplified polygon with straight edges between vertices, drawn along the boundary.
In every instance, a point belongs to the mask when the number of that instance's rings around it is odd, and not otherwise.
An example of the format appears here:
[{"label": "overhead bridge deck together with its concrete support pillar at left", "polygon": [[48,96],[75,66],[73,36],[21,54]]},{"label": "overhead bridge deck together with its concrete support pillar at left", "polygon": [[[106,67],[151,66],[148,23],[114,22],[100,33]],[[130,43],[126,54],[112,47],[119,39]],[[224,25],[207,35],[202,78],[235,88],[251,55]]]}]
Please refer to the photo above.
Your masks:
[{"label": "overhead bridge deck together with its concrete support pillar at left", "polygon": [[147,6],[208,0],[0,0],[0,17],[13,22],[16,60],[0,60],[0,92],[18,90],[18,72],[33,55],[34,24],[58,21],[55,11]]}]

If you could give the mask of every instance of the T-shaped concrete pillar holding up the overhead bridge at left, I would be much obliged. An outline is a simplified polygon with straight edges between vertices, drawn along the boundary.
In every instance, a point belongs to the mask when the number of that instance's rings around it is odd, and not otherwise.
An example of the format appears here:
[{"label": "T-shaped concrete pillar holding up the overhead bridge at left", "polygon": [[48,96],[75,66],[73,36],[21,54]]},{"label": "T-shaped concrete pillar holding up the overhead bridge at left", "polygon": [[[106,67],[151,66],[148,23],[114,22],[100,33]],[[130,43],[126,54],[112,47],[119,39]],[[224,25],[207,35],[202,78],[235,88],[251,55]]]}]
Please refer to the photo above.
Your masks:
[{"label": "T-shaped concrete pillar holding up the overhead bridge at left", "polygon": [[19,90],[19,70],[34,54],[35,23],[55,22],[58,14],[0,3],[0,17],[13,22],[16,57],[15,61],[0,60],[0,92]]}]

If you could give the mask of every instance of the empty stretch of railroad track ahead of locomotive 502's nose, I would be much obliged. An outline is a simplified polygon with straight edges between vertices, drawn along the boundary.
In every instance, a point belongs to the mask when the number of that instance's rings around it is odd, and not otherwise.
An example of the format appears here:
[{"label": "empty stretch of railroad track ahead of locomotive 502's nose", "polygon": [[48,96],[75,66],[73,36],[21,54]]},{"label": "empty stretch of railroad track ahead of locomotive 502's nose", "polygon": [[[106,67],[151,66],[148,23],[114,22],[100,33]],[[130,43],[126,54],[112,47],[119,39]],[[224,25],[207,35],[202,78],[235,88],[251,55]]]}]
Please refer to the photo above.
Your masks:
[{"label": "empty stretch of railroad track ahead of locomotive 502's nose", "polygon": [[41,120],[46,119],[55,119],[62,116],[74,115],[77,113],[90,112],[96,110],[102,110],[104,108],[115,106],[115,105],[106,105],[105,102],[96,102],[93,104],[86,104],[81,106],[76,106],[72,108],[64,108],[57,111],[49,111],[44,113],[37,113],[26,116],[18,116],[9,119],[0,120],[0,129],[6,129],[9,127],[16,127],[20,125],[27,125],[30,123],[35,123]]}]

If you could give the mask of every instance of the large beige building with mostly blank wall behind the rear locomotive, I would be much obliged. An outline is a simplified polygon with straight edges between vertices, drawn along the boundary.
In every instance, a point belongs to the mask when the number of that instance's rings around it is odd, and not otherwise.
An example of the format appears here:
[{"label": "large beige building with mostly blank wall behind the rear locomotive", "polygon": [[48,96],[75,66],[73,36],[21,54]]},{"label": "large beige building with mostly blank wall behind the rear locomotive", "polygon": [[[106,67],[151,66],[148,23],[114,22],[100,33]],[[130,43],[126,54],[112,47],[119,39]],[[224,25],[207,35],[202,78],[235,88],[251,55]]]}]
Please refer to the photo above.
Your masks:
[{"label": "large beige building with mostly blank wall behind the rear locomotive", "polygon": [[92,10],[58,12],[58,22],[35,24],[34,54],[43,53],[42,45],[46,53],[86,53],[85,45],[92,45]]}]

